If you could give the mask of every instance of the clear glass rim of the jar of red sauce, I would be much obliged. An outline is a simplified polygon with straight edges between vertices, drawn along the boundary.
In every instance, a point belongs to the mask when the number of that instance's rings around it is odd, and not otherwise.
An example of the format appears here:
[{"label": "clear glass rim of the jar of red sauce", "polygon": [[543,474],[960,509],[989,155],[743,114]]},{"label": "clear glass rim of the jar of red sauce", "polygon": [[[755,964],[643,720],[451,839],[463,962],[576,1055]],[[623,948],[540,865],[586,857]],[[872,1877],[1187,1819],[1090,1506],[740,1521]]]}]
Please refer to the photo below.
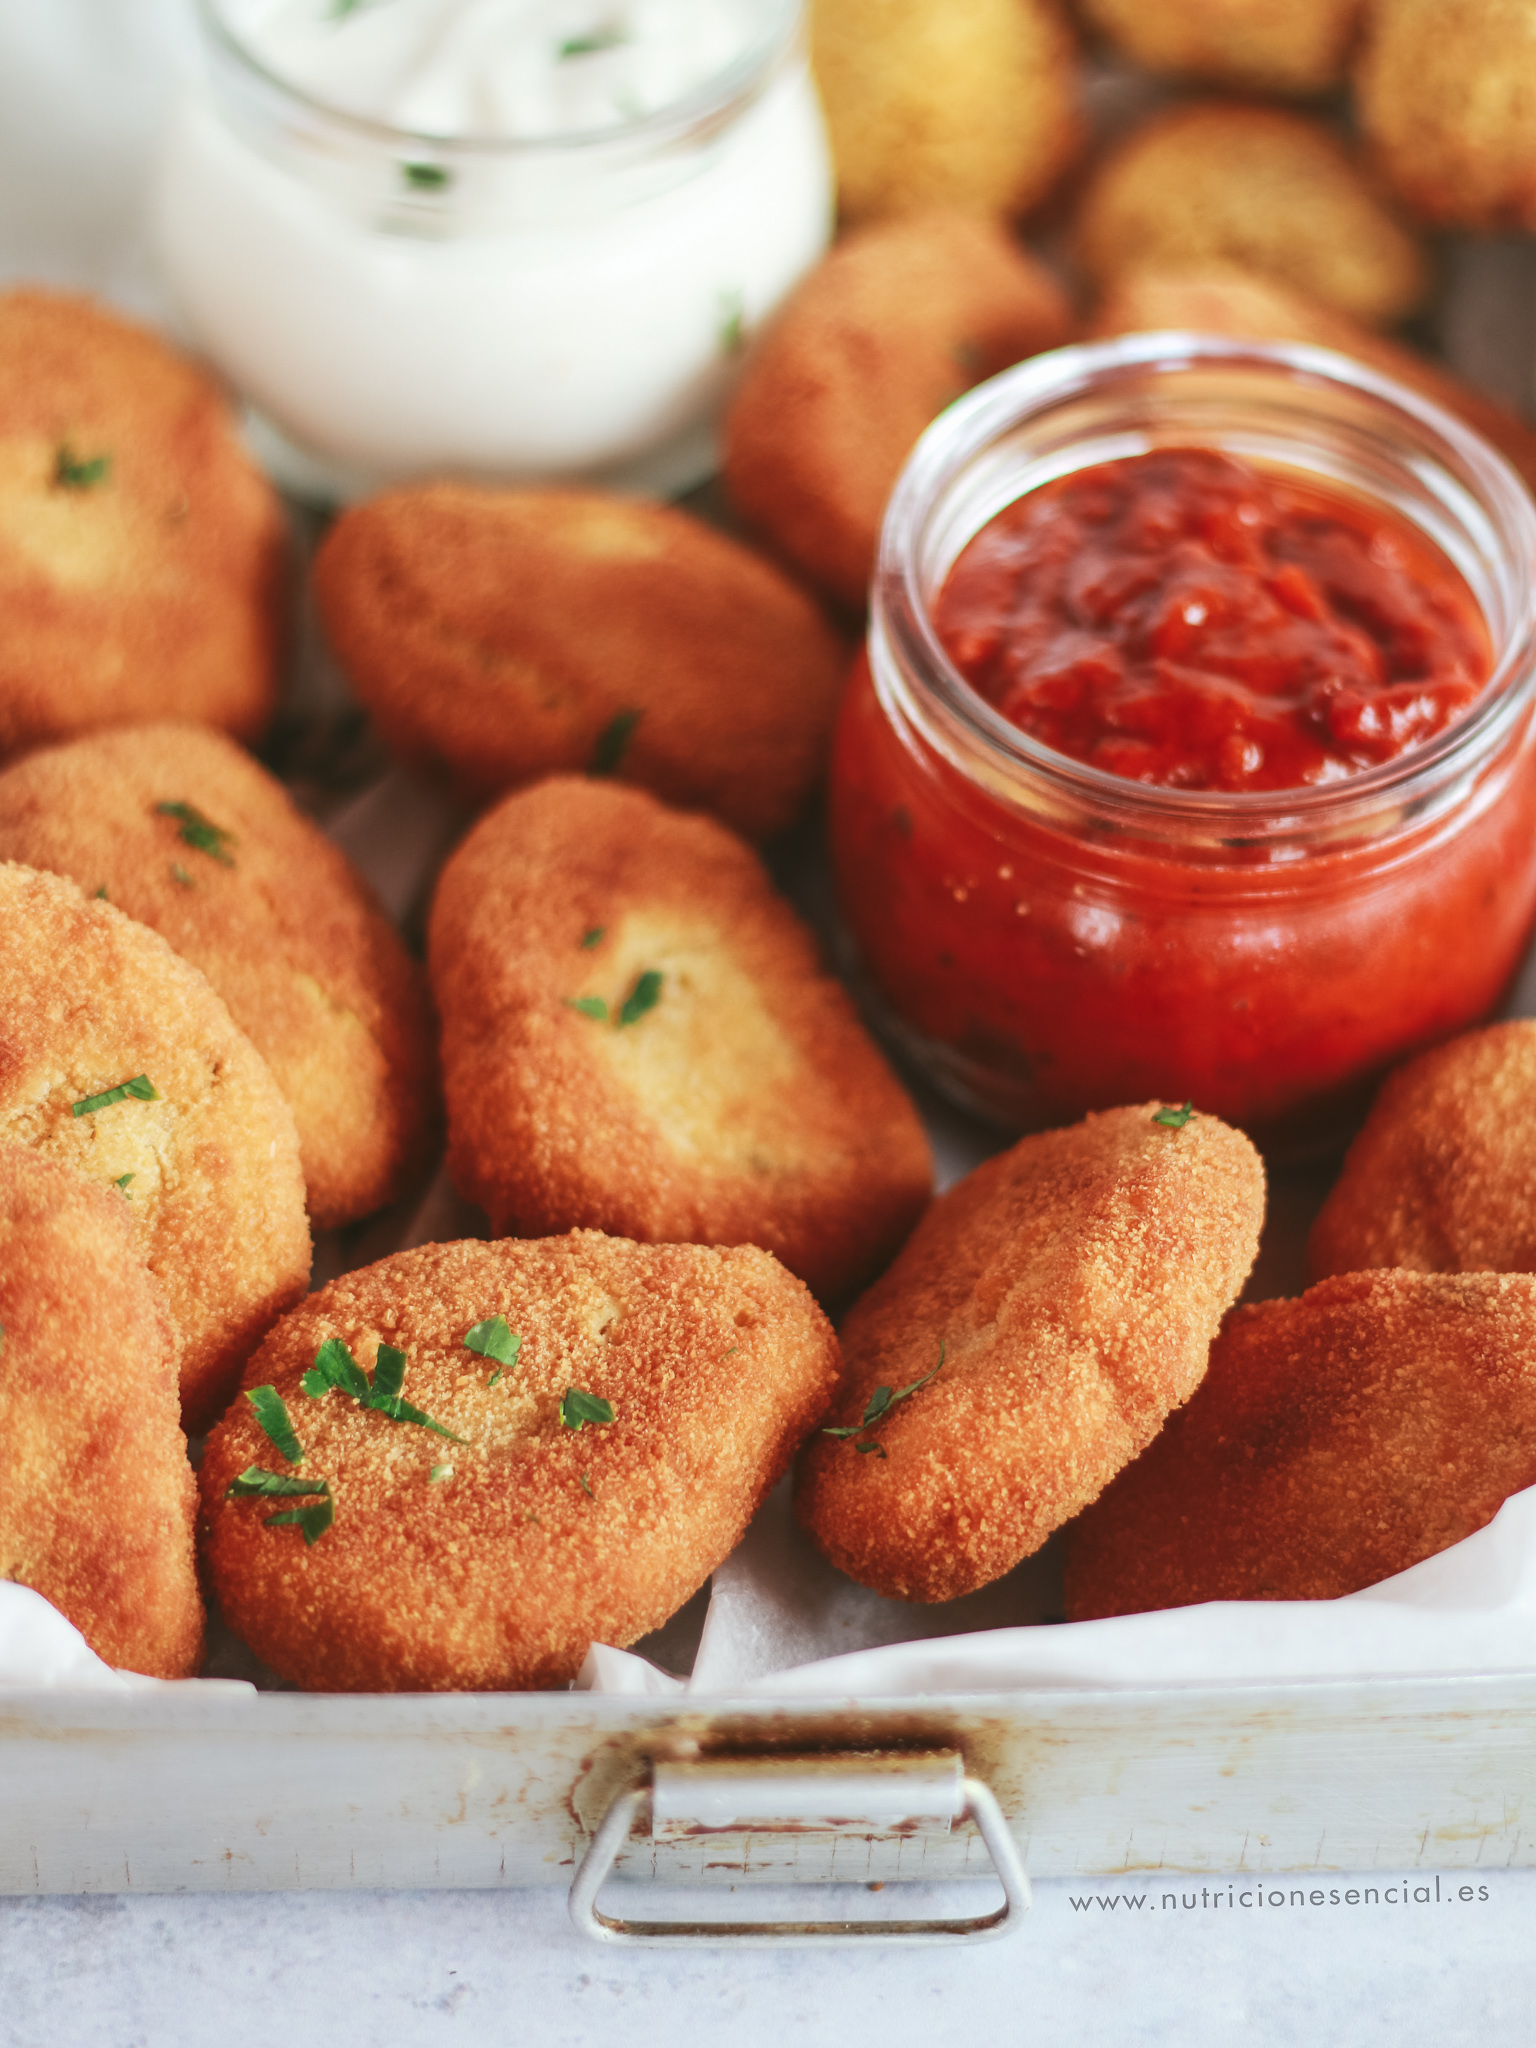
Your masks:
[{"label": "clear glass rim of the jar of red sauce", "polygon": [[[1483,510],[1505,537],[1511,567],[1518,569],[1518,602],[1477,700],[1444,731],[1389,762],[1333,782],[1278,791],[1167,788],[1135,782],[1044,745],[995,711],[954,666],[920,584],[922,539],[944,492],[1010,430],[1092,393],[1116,371],[1180,373],[1200,367],[1276,371],[1284,373],[1286,383],[1346,387],[1389,412],[1405,414],[1470,477]],[[1184,330],[1075,342],[1016,362],[977,385],[924,432],[907,457],[881,526],[868,643],[877,680],[887,668],[874,659],[877,649],[887,643],[901,676],[907,682],[922,678],[936,709],[958,729],[963,741],[1100,813],[1118,809],[1126,819],[1184,821],[1202,831],[1227,825],[1233,836],[1247,838],[1266,823],[1288,831],[1323,819],[1333,823],[1346,813],[1374,809],[1382,799],[1405,803],[1436,784],[1448,766],[1460,768],[1468,758],[1481,758],[1536,694],[1536,504],[1505,457],[1470,426],[1397,379],[1335,350],[1303,342],[1237,342]]]}]

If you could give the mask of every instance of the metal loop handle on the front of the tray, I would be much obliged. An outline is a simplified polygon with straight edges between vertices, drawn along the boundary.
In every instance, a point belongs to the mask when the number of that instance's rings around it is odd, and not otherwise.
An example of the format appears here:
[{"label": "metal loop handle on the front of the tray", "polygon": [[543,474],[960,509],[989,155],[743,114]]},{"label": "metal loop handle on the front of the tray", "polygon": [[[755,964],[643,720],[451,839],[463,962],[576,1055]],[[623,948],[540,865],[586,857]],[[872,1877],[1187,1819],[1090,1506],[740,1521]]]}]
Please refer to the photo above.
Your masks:
[{"label": "metal loop handle on the front of the tray", "polygon": [[[971,1919],[629,1921],[598,1911],[598,1892],[635,1825],[651,1841],[700,1835],[948,1835],[973,1821],[1004,1888]],[[897,1880],[899,1882],[899,1880]],[[594,1942],[989,1942],[1030,1909],[1030,1880],[1001,1808],[954,1751],[924,1755],[698,1757],[657,1761],[602,1817],[571,1882],[571,1919]]]}]

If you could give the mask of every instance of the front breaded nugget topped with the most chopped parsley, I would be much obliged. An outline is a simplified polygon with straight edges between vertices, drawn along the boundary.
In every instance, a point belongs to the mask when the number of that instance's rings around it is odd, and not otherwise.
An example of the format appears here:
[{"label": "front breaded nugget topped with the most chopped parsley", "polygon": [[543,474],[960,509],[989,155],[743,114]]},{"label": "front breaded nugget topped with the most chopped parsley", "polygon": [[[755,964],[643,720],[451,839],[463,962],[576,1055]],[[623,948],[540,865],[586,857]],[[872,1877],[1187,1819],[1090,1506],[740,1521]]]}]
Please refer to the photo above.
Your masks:
[{"label": "front breaded nugget topped with the most chopped parsley", "polygon": [[[453,1436],[340,1386],[311,1399],[334,1339],[367,1372],[403,1354],[403,1401]],[[702,1585],[836,1372],[821,1311],[750,1245],[399,1251],[311,1294],[252,1360],[246,1386],[276,1389],[297,1444],[229,1409],[201,1468],[207,1569],[229,1624],[307,1688],[563,1686],[594,1638],[633,1642]],[[268,1526],[293,1503],[229,1499],[250,1466],[324,1481],[297,1511],[332,1526],[305,1540]]]}]

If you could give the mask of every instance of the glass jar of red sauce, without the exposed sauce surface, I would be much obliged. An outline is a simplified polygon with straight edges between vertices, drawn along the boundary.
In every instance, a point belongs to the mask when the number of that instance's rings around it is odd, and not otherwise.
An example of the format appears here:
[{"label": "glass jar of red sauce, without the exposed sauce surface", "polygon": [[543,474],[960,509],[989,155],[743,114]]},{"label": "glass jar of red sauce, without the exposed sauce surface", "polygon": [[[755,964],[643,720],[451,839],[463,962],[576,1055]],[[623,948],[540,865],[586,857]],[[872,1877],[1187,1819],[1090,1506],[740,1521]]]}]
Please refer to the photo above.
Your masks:
[{"label": "glass jar of red sauce, without the exposed sauce surface", "polygon": [[[1481,614],[1487,678],[1430,737],[1407,717],[1386,758],[1280,788],[1137,780],[1135,750],[1110,750],[1122,774],[1020,729],[946,651],[946,580],[1024,494],[1155,449],[1233,457],[1380,532],[1475,635]],[[1036,356],[936,420],[891,498],[831,764],[842,913],[897,1040],[967,1108],[1028,1130],[1190,1100],[1272,1155],[1321,1153],[1384,1067],[1513,979],[1534,694],[1536,506],[1458,420],[1313,348],[1137,334]]]}]

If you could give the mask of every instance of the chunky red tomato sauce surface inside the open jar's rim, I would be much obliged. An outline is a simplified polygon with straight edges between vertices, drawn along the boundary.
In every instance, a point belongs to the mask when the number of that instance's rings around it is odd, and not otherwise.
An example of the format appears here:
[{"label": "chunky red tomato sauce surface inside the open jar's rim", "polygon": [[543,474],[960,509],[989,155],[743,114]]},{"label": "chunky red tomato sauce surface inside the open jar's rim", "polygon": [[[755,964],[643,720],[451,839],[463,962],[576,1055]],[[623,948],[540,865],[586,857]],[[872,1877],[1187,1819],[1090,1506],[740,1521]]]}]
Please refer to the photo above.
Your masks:
[{"label": "chunky red tomato sauce surface inside the open jar's rim", "polygon": [[1374,768],[1491,668],[1473,594],[1407,526],[1202,449],[1020,498],[958,557],[934,627],[1022,731],[1167,788]]}]

